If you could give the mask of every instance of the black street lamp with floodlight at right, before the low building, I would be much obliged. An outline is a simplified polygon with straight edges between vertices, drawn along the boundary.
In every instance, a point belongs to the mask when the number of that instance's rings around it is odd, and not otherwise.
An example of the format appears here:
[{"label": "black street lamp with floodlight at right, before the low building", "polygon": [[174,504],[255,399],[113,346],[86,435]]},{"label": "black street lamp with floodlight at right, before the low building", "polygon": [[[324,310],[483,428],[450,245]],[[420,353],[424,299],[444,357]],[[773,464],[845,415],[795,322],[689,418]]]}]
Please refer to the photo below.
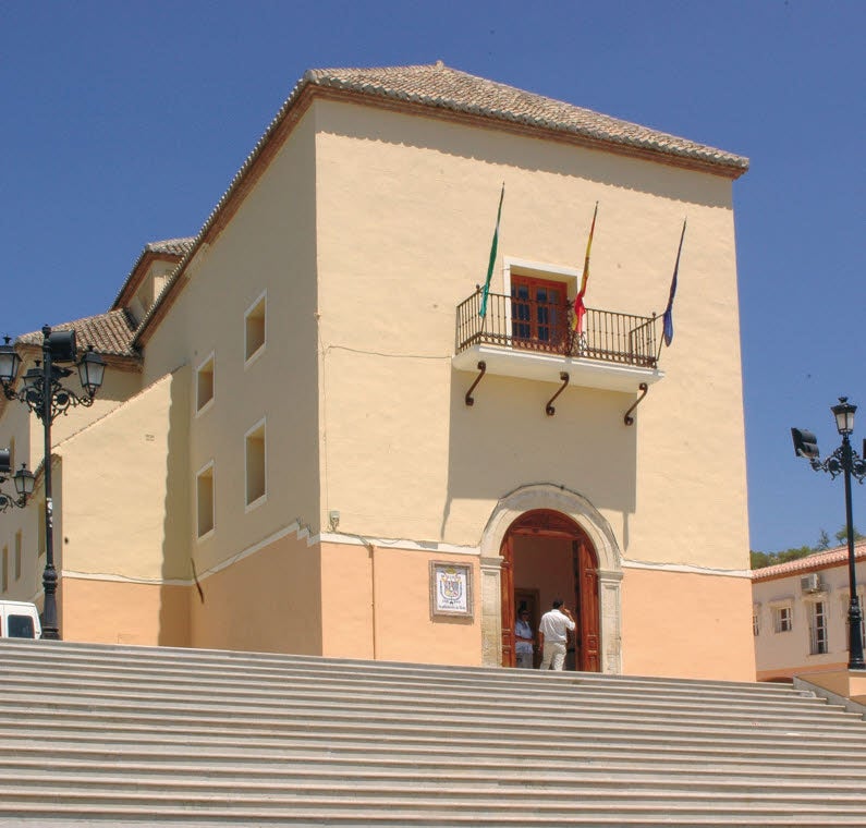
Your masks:
[{"label": "black street lamp with floodlight at right, before the low building", "polygon": [[866,440],[863,441],[863,454],[861,456],[851,447],[851,435],[854,431],[854,412],[857,406],[847,401],[847,397],[840,397],[839,404],[831,406],[835,417],[835,427],[842,436],[842,445],[830,454],[827,460],[821,461],[818,452],[818,441],[812,431],[802,428],[792,428],[791,437],[794,440],[794,453],[798,458],[806,458],[816,472],[827,472],[831,478],[840,474],[845,480],[845,528],[847,531],[847,581],[850,601],[847,608],[847,669],[866,670],[866,662],[863,660],[863,633],[861,622],[863,610],[857,597],[857,579],[854,569],[854,521],[851,518],[851,477],[857,478],[857,483],[863,483],[866,477]]}]

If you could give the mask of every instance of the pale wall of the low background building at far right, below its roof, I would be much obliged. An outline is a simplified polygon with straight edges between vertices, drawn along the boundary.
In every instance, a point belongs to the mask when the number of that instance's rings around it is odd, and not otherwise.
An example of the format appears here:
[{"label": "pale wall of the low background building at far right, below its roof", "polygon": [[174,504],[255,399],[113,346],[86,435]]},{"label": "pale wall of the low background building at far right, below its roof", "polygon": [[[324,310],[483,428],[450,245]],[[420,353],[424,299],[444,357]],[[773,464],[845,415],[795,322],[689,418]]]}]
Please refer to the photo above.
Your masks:
[{"label": "pale wall of the low background building at far right, below its roof", "polygon": [[[757,571],[758,573],[760,570]],[[821,593],[804,595],[800,586],[803,573],[772,581],[756,581],[752,587],[758,613],[758,635],[754,638],[755,661],[759,680],[798,675],[816,670],[831,670],[847,665],[847,567],[839,564],[820,571],[825,586]],[[862,590],[862,587],[858,587]],[[810,602],[822,600],[827,607],[828,653],[810,655]],[[772,607],[790,602],[793,629],[777,633]]]}]

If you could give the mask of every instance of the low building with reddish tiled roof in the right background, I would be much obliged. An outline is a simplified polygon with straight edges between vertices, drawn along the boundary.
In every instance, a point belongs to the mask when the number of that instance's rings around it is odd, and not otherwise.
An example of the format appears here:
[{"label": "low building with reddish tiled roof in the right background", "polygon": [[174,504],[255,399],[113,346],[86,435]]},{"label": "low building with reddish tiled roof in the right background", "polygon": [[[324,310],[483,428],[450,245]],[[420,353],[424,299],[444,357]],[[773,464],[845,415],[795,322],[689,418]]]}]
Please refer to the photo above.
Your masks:
[{"label": "low building with reddish tiled roof in the right background", "polygon": [[[856,567],[862,568],[866,541],[856,544],[854,553]],[[846,670],[851,602],[847,546],[755,570],[752,594],[759,681]],[[859,580],[857,597],[863,607]]]}]

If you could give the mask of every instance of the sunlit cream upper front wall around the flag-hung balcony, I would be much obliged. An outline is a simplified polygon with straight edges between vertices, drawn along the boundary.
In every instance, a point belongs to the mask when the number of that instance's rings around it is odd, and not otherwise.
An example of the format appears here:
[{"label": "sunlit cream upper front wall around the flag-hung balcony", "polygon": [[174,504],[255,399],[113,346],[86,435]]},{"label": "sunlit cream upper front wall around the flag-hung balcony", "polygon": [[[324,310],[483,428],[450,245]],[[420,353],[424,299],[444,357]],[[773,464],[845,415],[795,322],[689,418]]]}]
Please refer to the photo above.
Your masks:
[{"label": "sunlit cream upper front wall around the flag-hung balcony", "polygon": [[[747,567],[731,182],[527,137],[317,102],[320,522],[475,545],[501,497],[550,482],[587,497],[627,559]],[[452,370],[454,312],[484,279],[501,183],[503,257],[580,267],[587,303],[664,308],[688,231],[675,340],[629,428],[633,394]],[[635,389],[636,390],[636,389]],[[721,506],[720,506],[721,503]],[[488,550],[495,553],[496,550]]]}]

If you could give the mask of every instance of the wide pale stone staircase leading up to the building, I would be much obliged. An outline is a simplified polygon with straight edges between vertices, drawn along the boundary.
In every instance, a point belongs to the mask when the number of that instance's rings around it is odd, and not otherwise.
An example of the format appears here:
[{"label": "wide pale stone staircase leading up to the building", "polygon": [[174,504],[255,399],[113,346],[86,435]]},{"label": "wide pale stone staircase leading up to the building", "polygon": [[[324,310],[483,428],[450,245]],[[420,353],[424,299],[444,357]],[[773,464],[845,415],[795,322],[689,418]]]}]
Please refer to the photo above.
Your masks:
[{"label": "wide pale stone staircase leading up to the building", "polygon": [[0,642],[0,826],[866,825],[773,684]]}]

